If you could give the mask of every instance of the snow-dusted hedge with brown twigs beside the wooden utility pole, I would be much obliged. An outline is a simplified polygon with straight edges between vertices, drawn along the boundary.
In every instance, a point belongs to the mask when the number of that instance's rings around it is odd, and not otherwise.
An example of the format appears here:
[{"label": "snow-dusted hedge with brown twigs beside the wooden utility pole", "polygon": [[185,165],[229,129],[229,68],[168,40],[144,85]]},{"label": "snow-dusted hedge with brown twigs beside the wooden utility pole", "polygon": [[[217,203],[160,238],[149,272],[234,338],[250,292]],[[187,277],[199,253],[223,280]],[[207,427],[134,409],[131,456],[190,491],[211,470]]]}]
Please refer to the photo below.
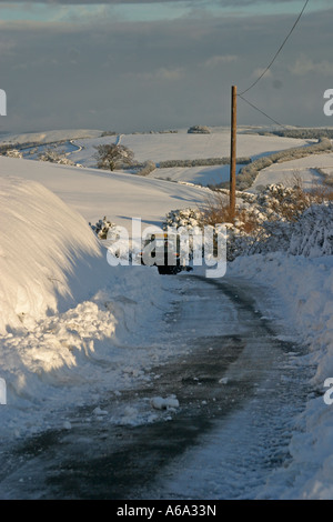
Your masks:
[{"label": "snow-dusted hedge with brown twigs beside the wooden utility pole", "polygon": [[[184,228],[191,233],[205,223],[205,209],[173,210],[165,218],[164,229]],[[304,257],[331,255],[332,223],[333,203],[317,204],[297,187],[278,183],[256,195],[238,192],[236,219],[234,223],[223,222],[228,229],[228,260],[278,251]]]}]

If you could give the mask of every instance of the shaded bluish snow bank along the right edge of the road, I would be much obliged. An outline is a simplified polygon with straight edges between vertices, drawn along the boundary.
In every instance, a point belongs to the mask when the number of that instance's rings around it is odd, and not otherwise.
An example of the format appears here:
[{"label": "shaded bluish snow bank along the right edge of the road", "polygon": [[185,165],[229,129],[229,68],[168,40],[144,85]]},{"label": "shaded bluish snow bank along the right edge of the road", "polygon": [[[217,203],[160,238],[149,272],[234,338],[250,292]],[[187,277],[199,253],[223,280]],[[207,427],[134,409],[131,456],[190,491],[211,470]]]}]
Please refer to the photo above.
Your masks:
[{"label": "shaded bluish snow bank along the right edge of the road", "polygon": [[[333,498],[333,405],[324,402],[324,381],[333,378],[333,255],[305,258],[283,252],[238,258],[229,275],[271,288],[278,319],[309,347],[314,393],[295,420],[289,468],[271,478],[263,498]],[[306,351],[306,350],[305,350]]]}]

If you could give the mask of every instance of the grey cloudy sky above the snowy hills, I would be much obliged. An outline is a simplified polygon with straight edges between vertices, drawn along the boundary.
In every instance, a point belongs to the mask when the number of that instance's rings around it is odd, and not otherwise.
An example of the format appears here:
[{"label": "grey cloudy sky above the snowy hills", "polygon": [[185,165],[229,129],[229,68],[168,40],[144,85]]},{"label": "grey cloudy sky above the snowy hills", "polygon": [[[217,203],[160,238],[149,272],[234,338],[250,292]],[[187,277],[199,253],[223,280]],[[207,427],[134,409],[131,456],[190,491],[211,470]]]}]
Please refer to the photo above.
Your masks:
[{"label": "grey cloudy sky above the snowy hills", "polygon": [[[230,89],[269,64],[304,0],[0,0],[0,131],[228,126]],[[310,0],[245,97],[283,124],[333,126],[332,0]],[[240,124],[269,124],[239,100]]]}]

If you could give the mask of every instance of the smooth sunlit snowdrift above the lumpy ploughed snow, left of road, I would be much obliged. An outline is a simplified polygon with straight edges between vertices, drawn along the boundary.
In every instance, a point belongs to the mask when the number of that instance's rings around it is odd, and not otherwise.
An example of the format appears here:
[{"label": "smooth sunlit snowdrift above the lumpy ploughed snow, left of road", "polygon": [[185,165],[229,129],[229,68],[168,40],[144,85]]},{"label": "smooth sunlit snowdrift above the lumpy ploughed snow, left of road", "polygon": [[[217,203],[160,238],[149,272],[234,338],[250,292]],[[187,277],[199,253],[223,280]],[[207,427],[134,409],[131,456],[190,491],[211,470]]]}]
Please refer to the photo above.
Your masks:
[{"label": "smooth sunlit snowdrift above the lumpy ploughed snow, left of road", "polygon": [[85,220],[36,181],[0,178],[0,334],[84,300],[144,303],[143,320],[165,299],[157,270],[110,267]]}]

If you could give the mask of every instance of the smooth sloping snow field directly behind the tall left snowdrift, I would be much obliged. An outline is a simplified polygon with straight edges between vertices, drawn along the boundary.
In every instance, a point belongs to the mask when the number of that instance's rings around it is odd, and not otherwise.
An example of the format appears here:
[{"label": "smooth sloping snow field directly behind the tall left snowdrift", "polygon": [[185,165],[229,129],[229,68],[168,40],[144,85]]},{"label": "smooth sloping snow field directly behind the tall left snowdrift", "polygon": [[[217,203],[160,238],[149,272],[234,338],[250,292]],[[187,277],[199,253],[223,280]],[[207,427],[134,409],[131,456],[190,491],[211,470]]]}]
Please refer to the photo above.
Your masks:
[{"label": "smooth sloping snow field directly behind the tall left snowdrift", "polygon": [[205,191],[133,174],[80,169],[16,158],[0,158],[1,175],[42,183],[91,223],[104,215],[131,229],[132,218],[159,224],[172,209],[196,205]]}]

